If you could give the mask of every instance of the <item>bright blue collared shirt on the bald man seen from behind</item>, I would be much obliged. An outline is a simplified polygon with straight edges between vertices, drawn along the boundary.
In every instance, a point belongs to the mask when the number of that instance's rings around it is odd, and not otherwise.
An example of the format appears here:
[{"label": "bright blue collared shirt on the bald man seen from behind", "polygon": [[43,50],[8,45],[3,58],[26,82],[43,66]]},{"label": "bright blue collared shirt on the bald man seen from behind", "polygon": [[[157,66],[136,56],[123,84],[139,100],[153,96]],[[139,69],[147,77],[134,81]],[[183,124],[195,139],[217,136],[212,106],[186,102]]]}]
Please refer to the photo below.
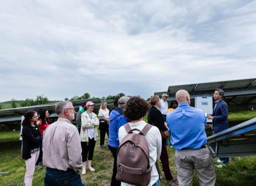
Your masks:
[{"label": "bright blue collared shirt on the bald man seen from behind", "polygon": [[205,125],[207,118],[204,112],[181,103],[178,108],[169,112],[166,117],[168,131],[171,132],[171,143],[177,150],[199,149],[206,145]]}]

